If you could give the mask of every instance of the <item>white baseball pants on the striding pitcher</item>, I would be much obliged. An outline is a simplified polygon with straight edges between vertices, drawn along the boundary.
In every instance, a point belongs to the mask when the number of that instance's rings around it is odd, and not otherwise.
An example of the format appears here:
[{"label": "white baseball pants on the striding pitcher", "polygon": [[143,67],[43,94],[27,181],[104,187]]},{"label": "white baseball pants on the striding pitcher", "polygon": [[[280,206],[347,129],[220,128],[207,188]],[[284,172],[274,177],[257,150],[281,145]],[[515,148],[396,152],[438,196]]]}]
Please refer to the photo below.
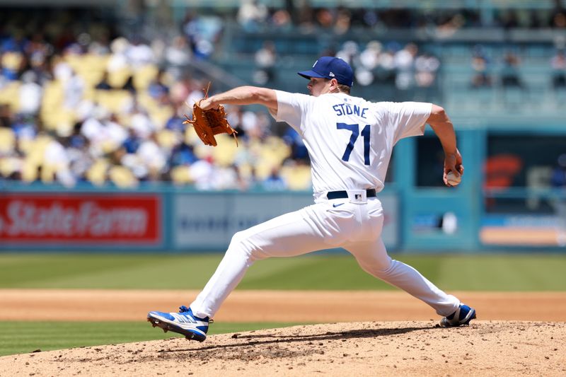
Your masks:
[{"label": "white baseball pants on the striding pitcher", "polygon": [[383,209],[377,198],[317,199],[316,204],[278,216],[234,234],[216,272],[190,307],[197,317],[213,318],[248,267],[267,257],[291,257],[328,248],[345,248],[364,271],[407,291],[450,315],[460,305],[416,269],[392,260],[381,240]]}]

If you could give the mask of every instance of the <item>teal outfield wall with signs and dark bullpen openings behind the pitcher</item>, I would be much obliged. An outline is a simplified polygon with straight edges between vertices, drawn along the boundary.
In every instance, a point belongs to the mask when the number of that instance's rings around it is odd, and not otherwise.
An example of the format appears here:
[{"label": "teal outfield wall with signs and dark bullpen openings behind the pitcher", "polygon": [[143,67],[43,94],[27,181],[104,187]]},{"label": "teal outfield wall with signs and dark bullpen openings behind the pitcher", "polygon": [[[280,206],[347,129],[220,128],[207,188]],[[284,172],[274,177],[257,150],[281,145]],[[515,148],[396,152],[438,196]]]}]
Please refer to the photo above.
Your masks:
[{"label": "teal outfield wall with signs and dark bullpen openings behind the pitcher", "polygon": [[[391,178],[379,193],[388,248],[566,253],[566,185],[550,185],[552,163],[566,152],[563,122],[533,134],[509,132],[505,122],[490,129],[456,124],[466,166],[458,187],[442,182],[444,154],[432,131],[396,144]],[[312,202],[311,192],[200,192],[166,182],[67,189],[0,180],[0,250],[221,251],[236,231]]]}]

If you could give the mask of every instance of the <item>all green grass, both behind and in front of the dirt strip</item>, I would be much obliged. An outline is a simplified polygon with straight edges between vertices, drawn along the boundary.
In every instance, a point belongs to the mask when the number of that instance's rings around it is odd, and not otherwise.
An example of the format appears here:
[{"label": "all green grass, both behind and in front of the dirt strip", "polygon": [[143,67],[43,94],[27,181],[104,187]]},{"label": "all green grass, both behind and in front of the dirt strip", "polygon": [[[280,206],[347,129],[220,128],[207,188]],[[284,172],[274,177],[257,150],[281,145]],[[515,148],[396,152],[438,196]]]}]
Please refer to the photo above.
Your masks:
[{"label": "all green grass, both behind and in front of the dirt strip", "polygon": [[[566,291],[566,255],[393,255],[450,291]],[[201,289],[221,259],[212,255],[0,254],[0,289]],[[148,279],[151,277],[152,279]],[[350,255],[270,259],[238,289],[393,289]],[[211,334],[296,323],[217,323]],[[149,323],[0,323],[0,355],[179,336]]]}]

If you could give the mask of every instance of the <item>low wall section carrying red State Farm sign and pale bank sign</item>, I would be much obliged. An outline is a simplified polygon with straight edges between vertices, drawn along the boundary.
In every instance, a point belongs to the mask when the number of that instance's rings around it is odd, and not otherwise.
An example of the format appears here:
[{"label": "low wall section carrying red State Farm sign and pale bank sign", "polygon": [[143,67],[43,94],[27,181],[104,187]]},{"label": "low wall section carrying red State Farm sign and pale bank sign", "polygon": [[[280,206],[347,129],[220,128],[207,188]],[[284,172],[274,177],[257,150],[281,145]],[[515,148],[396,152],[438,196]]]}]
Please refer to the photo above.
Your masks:
[{"label": "low wall section carrying red State Farm sign and pale bank sign", "polygon": [[[398,197],[383,240],[399,247]],[[313,204],[310,192],[21,190],[0,197],[0,250],[225,250],[233,233]]]}]

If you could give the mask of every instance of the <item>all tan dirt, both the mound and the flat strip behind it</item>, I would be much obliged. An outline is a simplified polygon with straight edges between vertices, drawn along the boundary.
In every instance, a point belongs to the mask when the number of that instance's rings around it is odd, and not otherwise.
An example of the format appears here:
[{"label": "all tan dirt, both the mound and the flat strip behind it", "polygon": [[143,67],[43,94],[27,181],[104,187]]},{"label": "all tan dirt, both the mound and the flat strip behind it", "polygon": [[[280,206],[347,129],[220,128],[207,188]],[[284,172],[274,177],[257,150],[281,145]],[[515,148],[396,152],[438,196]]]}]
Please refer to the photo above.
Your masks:
[{"label": "all tan dirt, both the mound and the flat strip behind it", "polygon": [[[301,293],[305,295],[303,298],[299,296]],[[178,304],[179,295],[186,300],[191,294],[187,291],[4,290],[0,291],[3,304],[0,319],[13,320],[6,318],[12,310],[23,315],[25,309],[18,302],[29,306],[41,297],[45,301],[40,300],[37,305],[44,309],[47,303],[57,306],[67,302],[59,306],[59,314],[73,307],[75,314],[80,313],[83,301],[79,297],[83,297],[92,313],[98,313],[93,308],[99,303],[105,307],[123,298],[124,308],[137,301],[144,307],[145,315],[148,309],[173,310],[171,301]],[[461,292],[457,295],[478,309],[478,320],[469,327],[444,329],[437,327],[438,318],[432,309],[403,292],[235,291],[216,320],[228,321],[233,311],[243,311],[248,315],[264,313],[263,320],[310,318],[302,320],[312,321],[317,313],[312,310],[318,308],[318,313],[323,313],[320,322],[328,318],[348,322],[212,335],[203,343],[172,337],[4,356],[0,358],[0,376],[566,375],[566,294]],[[108,304],[94,301],[97,298]],[[4,303],[8,306],[4,307]],[[281,308],[285,308],[283,313]],[[129,309],[129,314],[113,320],[127,320],[141,310]],[[403,322],[388,321],[383,318],[383,312],[397,315]],[[28,313],[33,313],[33,308]],[[144,320],[144,315],[137,318]],[[364,322],[367,315],[374,315],[379,322]],[[75,317],[75,320],[110,319],[103,315],[94,317]]]}]

